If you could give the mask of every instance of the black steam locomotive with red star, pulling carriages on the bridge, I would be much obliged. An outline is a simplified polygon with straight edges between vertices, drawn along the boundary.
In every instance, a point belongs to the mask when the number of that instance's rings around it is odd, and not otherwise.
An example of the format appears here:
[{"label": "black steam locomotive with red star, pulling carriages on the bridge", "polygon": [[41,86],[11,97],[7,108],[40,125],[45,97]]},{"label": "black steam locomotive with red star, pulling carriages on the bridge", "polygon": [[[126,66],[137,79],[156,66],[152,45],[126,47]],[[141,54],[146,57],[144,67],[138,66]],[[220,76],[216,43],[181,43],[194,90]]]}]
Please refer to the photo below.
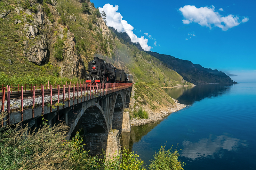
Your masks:
[{"label": "black steam locomotive with red star, pulling carriages on the bridge", "polygon": [[94,57],[88,62],[86,70],[86,83],[132,83],[132,74],[119,70],[110,63]]}]

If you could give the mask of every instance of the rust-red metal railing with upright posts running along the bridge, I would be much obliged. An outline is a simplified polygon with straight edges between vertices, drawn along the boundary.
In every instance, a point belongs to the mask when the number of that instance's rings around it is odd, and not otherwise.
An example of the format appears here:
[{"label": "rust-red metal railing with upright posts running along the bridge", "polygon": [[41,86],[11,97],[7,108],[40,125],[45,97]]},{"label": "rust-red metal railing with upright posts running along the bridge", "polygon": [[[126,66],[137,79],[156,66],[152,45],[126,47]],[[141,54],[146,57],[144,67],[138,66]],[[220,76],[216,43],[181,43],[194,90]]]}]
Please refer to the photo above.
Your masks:
[{"label": "rust-red metal railing with upright posts running along the bridge", "polygon": [[[66,88],[68,86],[68,97],[65,97],[65,92],[66,92]],[[2,96],[2,102],[1,102],[1,113],[4,111],[7,111],[8,115],[7,115],[7,119],[9,120],[9,115],[10,115],[10,102],[12,101],[20,101],[20,114],[21,114],[21,121],[23,121],[23,110],[24,110],[24,100],[28,100],[28,99],[32,99],[32,105],[31,106],[27,106],[27,107],[32,107],[32,117],[35,117],[35,99],[36,98],[41,98],[42,99],[42,114],[44,114],[44,98],[50,96],[50,101],[47,101],[50,103],[50,111],[52,111],[52,96],[56,95],[58,96],[58,100],[56,102],[60,103],[60,90],[62,91],[63,94],[63,103],[65,103],[65,99],[68,100],[68,106],[70,106],[70,90],[73,86],[73,101],[75,101],[75,89],[77,90],[77,103],[79,103],[79,92],[81,92],[80,98],[81,98],[81,102],[83,101],[83,95],[84,95],[84,100],[86,100],[86,95],[87,95],[87,100],[93,99],[95,98],[95,96],[103,96],[112,92],[116,92],[128,87],[132,86],[132,83],[103,83],[103,84],[67,84],[66,85],[58,85],[56,86],[56,84],[51,85],[51,84],[46,84],[46,86],[44,86],[43,84],[41,84],[40,86],[33,85],[32,84],[29,86],[30,89],[26,89],[26,85],[24,86],[20,86],[18,85],[18,87],[13,87],[13,85],[7,85],[7,87],[0,88],[0,91],[2,91],[2,94],[0,92],[0,95]],[[10,100],[10,96],[12,94],[13,89],[17,88],[15,93],[20,93],[20,97],[16,98],[15,100]],[[58,93],[53,94],[52,91],[55,90],[57,88]],[[7,89],[7,92],[5,92]],[[83,91],[84,90],[84,91]],[[41,91],[41,93],[40,93]],[[32,92],[30,97],[24,97],[24,93],[29,93]],[[36,95],[36,92],[39,92],[40,94]],[[44,95],[44,92],[50,92],[50,94],[48,95]],[[84,94],[83,94],[84,92]],[[6,95],[7,94],[7,95]],[[89,97],[90,96],[90,97]],[[7,100],[7,108],[5,108],[5,100]],[[15,109],[15,108],[14,108]],[[17,109],[17,108],[16,108]],[[8,125],[10,124],[10,121],[7,122]],[[1,126],[3,126],[3,120],[1,123]]]}]

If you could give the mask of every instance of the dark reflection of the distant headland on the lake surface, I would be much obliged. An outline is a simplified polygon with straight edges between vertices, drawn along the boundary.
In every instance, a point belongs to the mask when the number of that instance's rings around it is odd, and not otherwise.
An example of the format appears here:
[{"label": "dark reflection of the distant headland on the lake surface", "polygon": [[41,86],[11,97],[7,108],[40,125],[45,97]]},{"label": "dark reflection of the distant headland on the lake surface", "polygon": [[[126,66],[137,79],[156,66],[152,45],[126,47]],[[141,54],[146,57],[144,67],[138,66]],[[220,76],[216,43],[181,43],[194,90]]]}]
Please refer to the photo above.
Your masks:
[{"label": "dark reflection of the distant headland on the lake surface", "polygon": [[187,87],[166,88],[164,91],[172,98],[177,99],[182,104],[192,105],[195,101],[200,101],[208,97],[217,97],[230,90],[232,85],[209,84]]}]

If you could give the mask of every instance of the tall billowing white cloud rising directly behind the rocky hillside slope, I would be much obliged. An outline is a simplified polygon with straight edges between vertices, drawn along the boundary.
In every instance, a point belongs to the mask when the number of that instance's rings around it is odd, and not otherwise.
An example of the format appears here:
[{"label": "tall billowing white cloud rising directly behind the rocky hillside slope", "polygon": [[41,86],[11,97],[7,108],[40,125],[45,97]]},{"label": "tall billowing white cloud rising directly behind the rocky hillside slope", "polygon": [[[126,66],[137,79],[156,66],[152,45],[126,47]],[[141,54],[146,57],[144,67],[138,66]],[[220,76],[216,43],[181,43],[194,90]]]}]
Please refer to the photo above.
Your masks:
[{"label": "tall billowing white cloud rising directly behind the rocky hillside slope", "polygon": [[123,20],[123,17],[119,12],[116,12],[118,10],[118,5],[113,6],[111,4],[105,4],[102,8],[99,7],[99,10],[100,12],[105,11],[107,15],[107,26],[114,27],[118,32],[126,32],[132,42],[139,42],[142,49],[150,51],[152,47],[148,46],[148,39],[144,39],[144,36],[138,38],[137,35],[132,32],[133,26],[128,24],[126,20]]}]

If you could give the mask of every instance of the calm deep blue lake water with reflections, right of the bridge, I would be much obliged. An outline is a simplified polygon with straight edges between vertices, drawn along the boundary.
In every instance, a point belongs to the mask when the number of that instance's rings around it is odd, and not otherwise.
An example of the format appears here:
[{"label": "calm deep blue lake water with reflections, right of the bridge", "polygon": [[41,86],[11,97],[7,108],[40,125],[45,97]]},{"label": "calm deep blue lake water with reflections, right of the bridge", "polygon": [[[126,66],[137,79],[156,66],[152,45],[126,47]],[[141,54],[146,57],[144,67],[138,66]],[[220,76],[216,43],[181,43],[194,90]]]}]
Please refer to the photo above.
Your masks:
[{"label": "calm deep blue lake water with reflections, right of the bridge", "polygon": [[121,144],[146,165],[155,150],[179,146],[187,170],[256,169],[256,83],[165,89],[188,107],[162,121],[132,127]]}]

